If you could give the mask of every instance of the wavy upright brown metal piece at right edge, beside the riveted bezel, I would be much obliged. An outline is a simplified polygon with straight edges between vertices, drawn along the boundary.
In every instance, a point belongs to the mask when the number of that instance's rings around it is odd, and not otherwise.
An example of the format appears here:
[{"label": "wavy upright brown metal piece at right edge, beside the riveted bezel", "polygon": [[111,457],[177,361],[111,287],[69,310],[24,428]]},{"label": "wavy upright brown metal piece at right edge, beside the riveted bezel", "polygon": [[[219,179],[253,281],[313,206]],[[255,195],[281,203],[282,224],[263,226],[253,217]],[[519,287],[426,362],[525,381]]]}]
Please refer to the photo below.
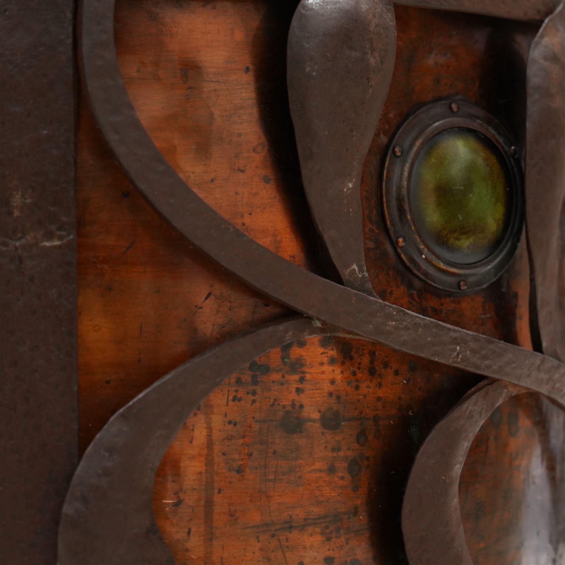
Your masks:
[{"label": "wavy upright brown metal piece at right edge, beside the riveted bezel", "polygon": [[528,60],[526,219],[540,350],[565,360],[565,4]]}]

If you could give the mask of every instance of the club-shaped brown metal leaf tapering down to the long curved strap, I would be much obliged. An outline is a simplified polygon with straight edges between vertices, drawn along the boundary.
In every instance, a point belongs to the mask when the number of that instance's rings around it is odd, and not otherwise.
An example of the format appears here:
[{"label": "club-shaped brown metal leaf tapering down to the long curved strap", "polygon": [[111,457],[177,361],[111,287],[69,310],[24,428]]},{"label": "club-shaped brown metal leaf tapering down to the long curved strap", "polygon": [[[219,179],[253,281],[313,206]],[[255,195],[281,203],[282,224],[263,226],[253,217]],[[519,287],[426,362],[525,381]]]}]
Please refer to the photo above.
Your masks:
[{"label": "club-shaped brown metal leaf tapering down to the long curved strap", "polygon": [[395,54],[389,0],[302,0],[294,14],[288,91],[302,181],[345,285],[372,295],[359,190]]}]

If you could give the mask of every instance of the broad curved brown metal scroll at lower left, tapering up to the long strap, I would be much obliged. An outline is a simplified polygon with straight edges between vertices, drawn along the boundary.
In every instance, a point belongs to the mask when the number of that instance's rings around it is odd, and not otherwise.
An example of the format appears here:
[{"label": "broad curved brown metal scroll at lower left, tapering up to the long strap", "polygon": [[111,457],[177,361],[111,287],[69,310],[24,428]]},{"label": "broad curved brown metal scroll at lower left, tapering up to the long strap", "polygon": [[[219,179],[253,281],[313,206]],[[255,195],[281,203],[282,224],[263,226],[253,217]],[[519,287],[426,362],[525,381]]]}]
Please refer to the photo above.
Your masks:
[{"label": "broad curved brown metal scroll at lower left, tapering up to the long strap", "polygon": [[59,528],[59,565],[173,565],[151,495],[163,455],[210,392],[250,360],[329,333],[311,319],[268,325],[212,347],[150,386],[94,438],[73,477]]}]

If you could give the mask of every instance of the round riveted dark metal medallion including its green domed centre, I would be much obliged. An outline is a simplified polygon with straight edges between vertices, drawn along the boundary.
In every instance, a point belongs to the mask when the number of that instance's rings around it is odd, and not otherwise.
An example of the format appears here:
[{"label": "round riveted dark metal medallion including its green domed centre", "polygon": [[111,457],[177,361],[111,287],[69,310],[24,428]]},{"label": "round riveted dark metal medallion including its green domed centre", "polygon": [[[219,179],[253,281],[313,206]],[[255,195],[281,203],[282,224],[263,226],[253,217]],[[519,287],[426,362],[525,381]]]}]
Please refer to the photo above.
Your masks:
[{"label": "round riveted dark metal medallion including its green domed centre", "polygon": [[405,121],[386,158],[383,209],[415,275],[473,292],[509,265],[524,216],[513,146],[492,116],[465,101],[434,102]]}]

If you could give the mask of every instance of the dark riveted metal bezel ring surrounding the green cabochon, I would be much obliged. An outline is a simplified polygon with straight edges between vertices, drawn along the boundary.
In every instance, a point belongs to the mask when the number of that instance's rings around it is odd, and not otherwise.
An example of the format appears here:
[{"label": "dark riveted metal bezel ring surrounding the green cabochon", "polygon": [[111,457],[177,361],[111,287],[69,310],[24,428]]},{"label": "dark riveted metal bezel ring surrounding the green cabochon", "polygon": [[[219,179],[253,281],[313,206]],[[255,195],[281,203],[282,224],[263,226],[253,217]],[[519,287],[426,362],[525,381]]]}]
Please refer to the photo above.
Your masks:
[{"label": "dark riveted metal bezel ring surrounding the green cabochon", "polygon": [[[451,128],[471,129],[492,141],[509,173],[509,221],[505,233],[489,257],[473,264],[454,263],[430,249],[420,236],[410,210],[414,163],[429,140]],[[453,292],[482,289],[502,274],[520,242],[524,196],[518,150],[502,125],[481,108],[461,100],[433,102],[412,114],[390,142],[384,166],[383,210],[393,245],[412,272],[429,284]]]}]

